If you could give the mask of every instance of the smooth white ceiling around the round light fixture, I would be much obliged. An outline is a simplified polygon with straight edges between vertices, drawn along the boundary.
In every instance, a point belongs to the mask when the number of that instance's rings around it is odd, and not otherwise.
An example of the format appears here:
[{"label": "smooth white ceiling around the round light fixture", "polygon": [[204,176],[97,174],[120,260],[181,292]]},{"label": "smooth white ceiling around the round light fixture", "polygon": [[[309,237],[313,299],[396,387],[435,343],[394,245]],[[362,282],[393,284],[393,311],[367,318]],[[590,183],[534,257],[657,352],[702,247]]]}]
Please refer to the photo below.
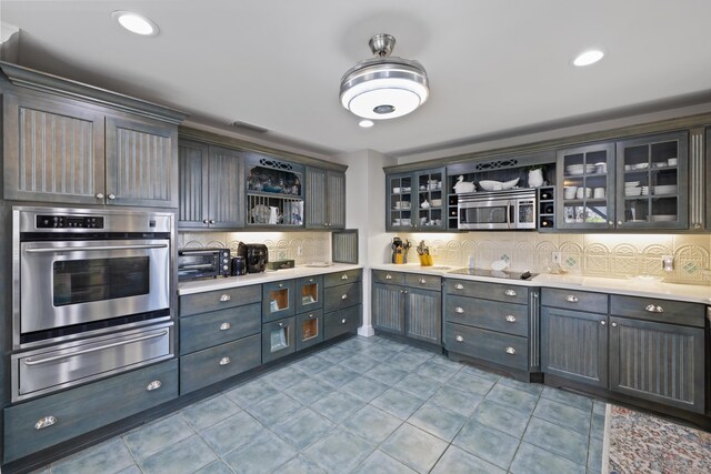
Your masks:
[{"label": "smooth white ceiling around the round light fixture", "polygon": [[[153,38],[118,27],[132,10]],[[190,121],[240,121],[304,150],[403,157],[620,110],[711,95],[709,0],[151,0],[0,2],[20,29],[18,62],[174,107]],[[341,108],[341,75],[395,37],[427,68],[430,100],[372,129]],[[589,68],[571,59],[590,47]]]}]

